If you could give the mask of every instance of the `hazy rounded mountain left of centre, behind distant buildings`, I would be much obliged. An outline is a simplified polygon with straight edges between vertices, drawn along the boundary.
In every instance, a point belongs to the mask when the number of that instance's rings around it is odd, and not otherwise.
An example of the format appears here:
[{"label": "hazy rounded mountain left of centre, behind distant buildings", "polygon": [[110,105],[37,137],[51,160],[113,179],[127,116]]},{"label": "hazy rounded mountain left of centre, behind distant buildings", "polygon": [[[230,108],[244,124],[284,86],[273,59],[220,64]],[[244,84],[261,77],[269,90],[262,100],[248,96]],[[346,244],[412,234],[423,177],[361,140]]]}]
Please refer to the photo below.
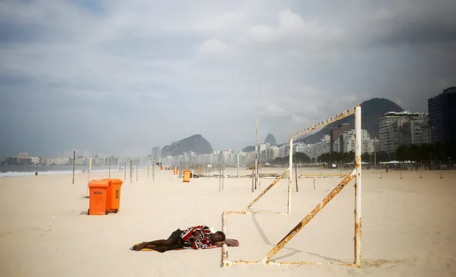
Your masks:
[{"label": "hazy rounded mountain left of centre, behind distant buildings", "polygon": [[189,136],[181,141],[175,141],[171,145],[164,146],[162,156],[178,156],[184,152],[193,151],[199,155],[210,154],[213,149],[211,143],[200,134]]}]

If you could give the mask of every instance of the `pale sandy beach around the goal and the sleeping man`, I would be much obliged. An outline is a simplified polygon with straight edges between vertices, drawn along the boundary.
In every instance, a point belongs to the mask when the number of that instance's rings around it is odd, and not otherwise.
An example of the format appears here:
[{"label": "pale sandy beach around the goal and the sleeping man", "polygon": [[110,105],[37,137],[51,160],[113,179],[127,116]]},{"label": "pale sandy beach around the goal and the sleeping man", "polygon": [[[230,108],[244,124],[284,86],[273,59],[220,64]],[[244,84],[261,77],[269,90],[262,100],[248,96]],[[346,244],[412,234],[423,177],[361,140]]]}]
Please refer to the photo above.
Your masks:
[{"label": "pale sandy beach around the goal and the sleeping man", "polygon": [[[270,170],[269,172],[271,172]],[[243,171],[242,174],[251,171]],[[277,171],[278,172],[278,171]],[[320,171],[313,171],[320,173]],[[232,170],[231,173],[235,173]],[[310,173],[300,170],[300,173]],[[324,173],[324,172],[323,172]],[[338,173],[330,171],[330,173]],[[363,268],[242,266],[221,268],[221,249],[135,252],[133,243],[168,238],[176,228],[221,229],[222,211],[239,211],[260,192],[249,178],[193,178],[171,171],[155,183],[140,171],[121,190],[121,211],[87,216],[86,174],[0,178],[0,276],[456,276],[456,172],[383,174],[363,171]],[[111,173],[123,178],[123,172]],[[107,178],[92,173],[91,178]],[[293,176],[294,178],[294,176]],[[273,179],[262,179],[261,189]],[[332,188],[339,178],[300,178],[292,216],[229,215],[230,260],[259,260]],[[354,181],[275,257],[278,261],[353,261]],[[253,208],[286,213],[287,181]],[[294,185],[293,185],[294,186]]]}]

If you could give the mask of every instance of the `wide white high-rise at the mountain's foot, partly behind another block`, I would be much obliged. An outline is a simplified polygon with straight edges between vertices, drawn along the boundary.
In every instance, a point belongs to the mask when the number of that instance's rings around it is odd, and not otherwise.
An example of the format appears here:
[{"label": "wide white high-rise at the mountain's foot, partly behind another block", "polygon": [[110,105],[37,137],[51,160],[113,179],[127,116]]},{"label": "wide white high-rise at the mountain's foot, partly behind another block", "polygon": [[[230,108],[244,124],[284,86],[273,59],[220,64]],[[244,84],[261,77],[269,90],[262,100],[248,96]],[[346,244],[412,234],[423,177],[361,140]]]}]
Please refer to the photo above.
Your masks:
[{"label": "wide white high-rise at the mountain's foot, partly behind another block", "polygon": [[424,119],[427,113],[410,113],[410,111],[390,111],[378,119],[380,151],[395,152],[400,146],[402,124],[415,119]]}]

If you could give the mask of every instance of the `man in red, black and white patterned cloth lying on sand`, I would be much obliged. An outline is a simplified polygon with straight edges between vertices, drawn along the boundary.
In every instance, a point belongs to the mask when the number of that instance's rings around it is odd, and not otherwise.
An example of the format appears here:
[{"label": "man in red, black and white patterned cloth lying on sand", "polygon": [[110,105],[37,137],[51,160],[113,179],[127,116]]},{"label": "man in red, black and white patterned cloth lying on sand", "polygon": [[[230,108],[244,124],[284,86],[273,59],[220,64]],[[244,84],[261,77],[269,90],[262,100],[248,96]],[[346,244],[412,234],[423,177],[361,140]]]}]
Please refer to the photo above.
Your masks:
[{"label": "man in red, black and white patterned cloth lying on sand", "polygon": [[222,231],[213,233],[208,226],[200,225],[188,227],[183,231],[177,229],[171,233],[168,239],[144,241],[131,249],[140,251],[143,248],[148,248],[161,253],[181,248],[205,249],[220,247],[225,243],[225,239],[225,234]]}]

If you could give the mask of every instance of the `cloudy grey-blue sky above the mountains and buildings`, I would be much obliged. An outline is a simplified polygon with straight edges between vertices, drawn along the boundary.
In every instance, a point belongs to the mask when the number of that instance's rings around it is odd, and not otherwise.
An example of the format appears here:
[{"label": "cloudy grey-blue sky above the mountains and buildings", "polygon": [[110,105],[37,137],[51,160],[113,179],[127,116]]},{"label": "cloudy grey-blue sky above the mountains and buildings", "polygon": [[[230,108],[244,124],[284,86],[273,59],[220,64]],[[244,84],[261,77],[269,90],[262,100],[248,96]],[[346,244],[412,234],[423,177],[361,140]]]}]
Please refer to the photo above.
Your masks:
[{"label": "cloudy grey-blue sky above the mountains and buildings", "polygon": [[0,158],[237,151],[456,86],[454,0],[0,1]]}]

